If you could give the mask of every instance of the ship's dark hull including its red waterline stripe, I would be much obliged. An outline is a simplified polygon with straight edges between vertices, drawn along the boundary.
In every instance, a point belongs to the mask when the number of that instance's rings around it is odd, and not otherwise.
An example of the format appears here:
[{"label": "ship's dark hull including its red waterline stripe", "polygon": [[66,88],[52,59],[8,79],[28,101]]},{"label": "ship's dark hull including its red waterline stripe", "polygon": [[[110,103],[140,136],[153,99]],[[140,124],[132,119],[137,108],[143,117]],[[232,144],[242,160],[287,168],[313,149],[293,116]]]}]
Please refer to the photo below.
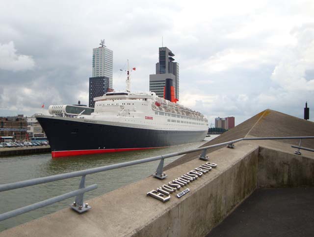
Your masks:
[{"label": "ship's dark hull including its red waterline stripe", "polygon": [[37,117],[52,158],[150,149],[203,141],[208,131],[172,131],[83,122],[74,118]]}]

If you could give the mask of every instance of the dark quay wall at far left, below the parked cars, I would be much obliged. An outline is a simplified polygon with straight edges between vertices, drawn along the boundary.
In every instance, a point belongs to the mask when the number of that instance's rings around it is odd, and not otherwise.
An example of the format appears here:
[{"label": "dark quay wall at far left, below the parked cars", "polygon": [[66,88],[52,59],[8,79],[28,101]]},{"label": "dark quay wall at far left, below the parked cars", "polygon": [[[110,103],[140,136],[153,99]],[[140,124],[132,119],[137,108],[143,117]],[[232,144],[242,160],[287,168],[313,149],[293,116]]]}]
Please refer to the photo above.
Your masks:
[{"label": "dark quay wall at far left, below the parked cars", "polygon": [[0,148],[0,157],[45,153],[45,152],[50,152],[50,151],[51,151],[50,145]]}]

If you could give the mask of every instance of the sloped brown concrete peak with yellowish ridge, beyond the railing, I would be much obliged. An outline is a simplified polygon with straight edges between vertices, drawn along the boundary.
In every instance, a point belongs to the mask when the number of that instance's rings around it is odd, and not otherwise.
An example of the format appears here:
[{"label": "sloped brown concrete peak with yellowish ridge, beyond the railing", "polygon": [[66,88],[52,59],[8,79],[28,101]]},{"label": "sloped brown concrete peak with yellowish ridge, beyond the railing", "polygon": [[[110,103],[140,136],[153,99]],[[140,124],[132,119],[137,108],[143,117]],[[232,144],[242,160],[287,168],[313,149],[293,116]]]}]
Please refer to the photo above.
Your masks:
[{"label": "sloped brown concrete peak with yellowish ridge, beyond the railing", "polygon": [[[299,119],[278,111],[266,109],[250,119],[245,120],[219,137],[205,143],[201,147],[228,142],[244,137],[294,137],[314,136],[314,122]],[[299,140],[277,140],[279,142],[298,145]],[[301,146],[314,149],[314,139],[303,140]],[[208,149],[208,153],[221,147]],[[201,152],[186,154],[178,160],[165,166],[165,170],[184,164],[199,156]]]}]

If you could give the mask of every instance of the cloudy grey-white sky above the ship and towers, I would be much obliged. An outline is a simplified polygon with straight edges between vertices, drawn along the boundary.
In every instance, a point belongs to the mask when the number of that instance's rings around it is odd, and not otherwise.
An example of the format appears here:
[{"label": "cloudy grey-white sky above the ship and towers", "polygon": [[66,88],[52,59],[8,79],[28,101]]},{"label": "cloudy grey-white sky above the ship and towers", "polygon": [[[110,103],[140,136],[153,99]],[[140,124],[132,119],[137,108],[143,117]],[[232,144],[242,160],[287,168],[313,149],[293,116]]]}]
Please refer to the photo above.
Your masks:
[{"label": "cloudy grey-white sky above the ship and towers", "polygon": [[92,49],[113,50],[115,90],[149,90],[158,47],[180,64],[180,103],[236,124],[270,108],[314,118],[313,0],[11,0],[0,8],[0,116],[88,104]]}]

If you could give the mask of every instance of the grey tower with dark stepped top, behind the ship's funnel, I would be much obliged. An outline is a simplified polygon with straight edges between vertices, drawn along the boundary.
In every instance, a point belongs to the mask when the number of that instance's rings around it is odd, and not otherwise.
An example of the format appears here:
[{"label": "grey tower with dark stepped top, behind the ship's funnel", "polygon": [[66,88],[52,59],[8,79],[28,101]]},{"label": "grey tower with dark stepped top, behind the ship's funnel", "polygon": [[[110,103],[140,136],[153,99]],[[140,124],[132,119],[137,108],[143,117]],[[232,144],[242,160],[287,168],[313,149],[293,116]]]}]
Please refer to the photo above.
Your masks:
[{"label": "grey tower with dark stepped top, behind the ship's funnel", "polygon": [[156,74],[149,75],[149,90],[163,97],[163,88],[167,78],[173,80],[176,98],[179,99],[179,63],[174,62],[174,53],[167,47],[159,47],[159,62]]}]

